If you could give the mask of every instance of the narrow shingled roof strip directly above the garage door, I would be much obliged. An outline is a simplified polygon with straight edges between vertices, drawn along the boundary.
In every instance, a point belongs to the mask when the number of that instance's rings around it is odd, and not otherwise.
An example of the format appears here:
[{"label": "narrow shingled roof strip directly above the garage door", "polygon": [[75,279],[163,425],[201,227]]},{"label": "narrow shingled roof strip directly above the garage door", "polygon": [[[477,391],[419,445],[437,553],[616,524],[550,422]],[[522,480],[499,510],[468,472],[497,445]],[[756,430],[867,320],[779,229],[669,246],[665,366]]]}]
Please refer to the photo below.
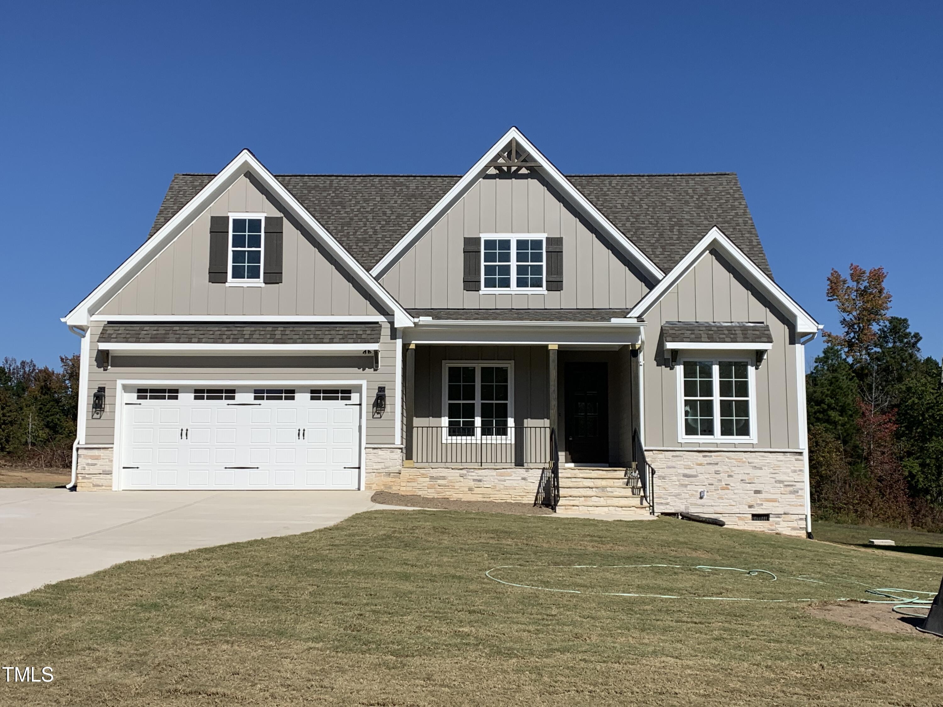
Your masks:
[{"label": "narrow shingled roof strip directly above the garage door", "polygon": [[116,344],[376,344],[380,325],[107,323],[98,340]]}]

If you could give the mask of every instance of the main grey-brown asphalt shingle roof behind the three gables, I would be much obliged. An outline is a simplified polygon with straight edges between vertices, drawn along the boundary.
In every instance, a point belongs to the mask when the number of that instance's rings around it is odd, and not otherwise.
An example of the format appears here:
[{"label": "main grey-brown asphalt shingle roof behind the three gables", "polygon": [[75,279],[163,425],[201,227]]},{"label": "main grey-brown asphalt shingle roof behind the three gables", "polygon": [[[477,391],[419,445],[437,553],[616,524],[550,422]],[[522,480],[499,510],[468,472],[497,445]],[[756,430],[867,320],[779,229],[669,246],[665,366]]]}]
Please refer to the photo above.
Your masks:
[{"label": "main grey-brown asphalt shingle roof behind the three gables", "polygon": [[[174,174],[148,238],[215,174]],[[364,268],[380,258],[461,177],[410,174],[276,174]],[[571,174],[572,184],[662,271],[717,225],[768,275],[750,209],[734,173]]]}]

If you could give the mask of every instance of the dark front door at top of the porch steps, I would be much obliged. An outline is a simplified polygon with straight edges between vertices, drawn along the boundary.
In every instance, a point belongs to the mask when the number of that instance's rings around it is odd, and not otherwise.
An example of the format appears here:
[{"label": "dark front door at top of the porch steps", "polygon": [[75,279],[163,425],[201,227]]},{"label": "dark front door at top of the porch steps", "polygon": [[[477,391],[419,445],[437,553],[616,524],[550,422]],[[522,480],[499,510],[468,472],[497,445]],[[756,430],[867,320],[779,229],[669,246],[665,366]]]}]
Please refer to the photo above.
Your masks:
[{"label": "dark front door at top of the porch steps", "polygon": [[564,369],[567,452],[574,464],[608,464],[608,372],[604,363],[568,363]]}]

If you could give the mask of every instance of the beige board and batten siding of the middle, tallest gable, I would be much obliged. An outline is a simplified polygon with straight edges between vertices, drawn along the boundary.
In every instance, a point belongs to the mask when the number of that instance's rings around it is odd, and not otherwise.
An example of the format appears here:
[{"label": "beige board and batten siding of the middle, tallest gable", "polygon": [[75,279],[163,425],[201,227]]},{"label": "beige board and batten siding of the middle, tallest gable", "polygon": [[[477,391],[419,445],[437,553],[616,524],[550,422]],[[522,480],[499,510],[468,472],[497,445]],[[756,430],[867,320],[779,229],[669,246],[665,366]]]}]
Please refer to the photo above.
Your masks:
[{"label": "beige board and batten siding of the middle, tallest gable", "polygon": [[[545,233],[563,238],[563,289],[546,294],[465,291],[464,238]],[[538,175],[486,176],[380,279],[406,308],[629,308],[649,290],[624,256]]]}]

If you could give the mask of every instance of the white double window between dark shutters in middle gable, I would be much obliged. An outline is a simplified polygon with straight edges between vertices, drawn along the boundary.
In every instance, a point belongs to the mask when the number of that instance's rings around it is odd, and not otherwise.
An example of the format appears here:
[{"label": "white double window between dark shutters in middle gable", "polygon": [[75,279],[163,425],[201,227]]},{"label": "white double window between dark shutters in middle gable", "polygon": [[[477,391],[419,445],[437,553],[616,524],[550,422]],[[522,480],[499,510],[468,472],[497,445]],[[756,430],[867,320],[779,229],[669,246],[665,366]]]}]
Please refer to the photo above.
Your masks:
[{"label": "white double window between dark shutters in middle gable", "polygon": [[546,234],[481,237],[482,290],[543,291]]}]

